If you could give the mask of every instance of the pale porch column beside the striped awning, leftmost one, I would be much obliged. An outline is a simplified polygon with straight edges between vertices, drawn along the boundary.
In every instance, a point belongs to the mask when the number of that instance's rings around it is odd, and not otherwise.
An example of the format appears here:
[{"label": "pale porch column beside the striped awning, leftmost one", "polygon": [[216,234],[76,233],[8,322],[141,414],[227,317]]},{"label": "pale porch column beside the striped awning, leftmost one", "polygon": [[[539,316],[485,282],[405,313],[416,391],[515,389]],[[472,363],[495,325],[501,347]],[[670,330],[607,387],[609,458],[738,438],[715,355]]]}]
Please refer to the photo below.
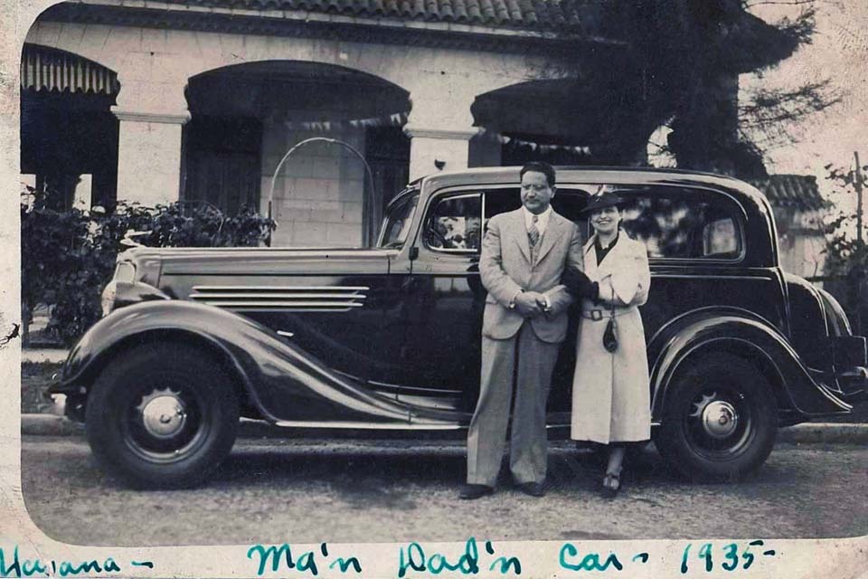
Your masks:
[{"label": "pale porch column beside the striped awning, leftmost one", "polygon": [[[181,132],[190,119],[183,72],[151,55],[129,58],[118,71],[121,90],[112,112],[118,134],[118,201],[168,204],[181,195]],[[163,71],[160,73],[160,71]]]}]

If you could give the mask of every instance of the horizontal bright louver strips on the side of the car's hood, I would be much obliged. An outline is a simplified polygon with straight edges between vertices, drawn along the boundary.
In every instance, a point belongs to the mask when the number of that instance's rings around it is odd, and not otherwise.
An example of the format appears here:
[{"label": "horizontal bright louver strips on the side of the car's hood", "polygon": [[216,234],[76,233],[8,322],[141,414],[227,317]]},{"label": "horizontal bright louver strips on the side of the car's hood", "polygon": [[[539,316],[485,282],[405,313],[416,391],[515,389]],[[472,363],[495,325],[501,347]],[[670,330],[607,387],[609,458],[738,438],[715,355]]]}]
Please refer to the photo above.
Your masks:
[{"label": "horizontal bright louver strips on the side of the car's hood", "polygon": [[362,308],[365,286],[193,286],[190,299],[235,311],[350,311]]}]

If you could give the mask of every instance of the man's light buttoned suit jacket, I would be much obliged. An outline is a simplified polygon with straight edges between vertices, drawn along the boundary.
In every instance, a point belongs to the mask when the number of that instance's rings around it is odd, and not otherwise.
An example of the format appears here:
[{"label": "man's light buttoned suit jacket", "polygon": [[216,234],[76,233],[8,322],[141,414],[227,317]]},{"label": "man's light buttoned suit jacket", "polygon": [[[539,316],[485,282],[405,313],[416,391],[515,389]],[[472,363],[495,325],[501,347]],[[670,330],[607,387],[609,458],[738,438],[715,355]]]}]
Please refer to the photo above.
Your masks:
[{"label": "man's light buttoned suit jacket", "polygon": [[479,258],[482,285],[488,290],[483,336],[506,339],[518,332],[525,319],[509,305],[524,289],[545,294],[551,306],[545,314],[529,320],[536,337],[550,343],[562,342],[566,337],[567,308],[572,298],[561,285],[561,274],[567,264],[582,269],[579,228],[552,212],[537,243],[539,249],[532,261],[521,209],[495,215],[488,222]]}]

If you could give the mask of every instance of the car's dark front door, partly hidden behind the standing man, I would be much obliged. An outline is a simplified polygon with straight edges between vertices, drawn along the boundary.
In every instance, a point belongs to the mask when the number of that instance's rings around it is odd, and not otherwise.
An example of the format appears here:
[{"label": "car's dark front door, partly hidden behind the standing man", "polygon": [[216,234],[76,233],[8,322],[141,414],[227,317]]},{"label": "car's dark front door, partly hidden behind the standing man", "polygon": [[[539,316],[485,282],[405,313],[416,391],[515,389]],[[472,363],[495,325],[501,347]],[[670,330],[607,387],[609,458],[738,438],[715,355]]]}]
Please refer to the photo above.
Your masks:
[{"label": "car's dark front door, partly hidden behind the standing man", "polygon": [[[568,188],[555,210],[572,219],[588,194]],[[401,399],[472,413],[479,392],[482,315],[486,289],[479,280],[481,236],[496,214],[521,207],[515,185],[458,187],[432,195],[416,239],[407,304]],[[574,314],[573,314],[574,315]],[[550,413],[570,408],[575,323],[555,371]]]}]

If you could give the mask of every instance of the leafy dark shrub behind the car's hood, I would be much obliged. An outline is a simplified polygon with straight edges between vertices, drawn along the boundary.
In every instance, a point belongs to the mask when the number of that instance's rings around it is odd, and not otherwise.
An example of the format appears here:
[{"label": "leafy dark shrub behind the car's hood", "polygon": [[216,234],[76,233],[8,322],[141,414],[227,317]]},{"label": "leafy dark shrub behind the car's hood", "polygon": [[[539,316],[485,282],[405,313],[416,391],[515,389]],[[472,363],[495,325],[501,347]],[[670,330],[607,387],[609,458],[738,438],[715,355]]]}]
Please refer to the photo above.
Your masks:
[{"label": "leafy dark shrub behind the car's hood", "polygon": [[250,210],[227,217],[203,203],[178,202],[155,208],[118,204],[111,214],[54,211],[44,195],[28,187],[21,206],[22,318],[52,306],[49,336],[73,343],[100,315],[100,294],[111,279],[127,230],[149,232],[137,242],[155,247],[256,246],[277,224]]}]

